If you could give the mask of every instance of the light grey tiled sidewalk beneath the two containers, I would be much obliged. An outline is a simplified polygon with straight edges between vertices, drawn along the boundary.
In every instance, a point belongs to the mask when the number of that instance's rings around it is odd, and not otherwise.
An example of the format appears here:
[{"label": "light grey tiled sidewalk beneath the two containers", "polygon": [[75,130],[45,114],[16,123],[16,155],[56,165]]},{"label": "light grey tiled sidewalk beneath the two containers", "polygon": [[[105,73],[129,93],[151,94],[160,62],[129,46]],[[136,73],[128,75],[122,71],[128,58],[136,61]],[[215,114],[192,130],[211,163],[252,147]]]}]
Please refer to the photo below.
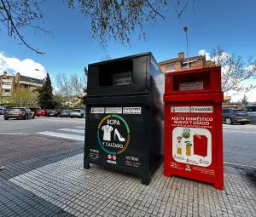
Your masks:
[{"label": "light grey tiled sidewalk beneath the two containers", "polygon": [[78,154],[15,176],[9,183],[52,205],[45,212],[60,208],[63,213],[53,214],[60,216],[256,216],[255,180],[241,169],[224,170],[224,191],[165,177],[162,166],[150,185],[143,186],[131,174],[97,166],[86,170],[83,154]]}]

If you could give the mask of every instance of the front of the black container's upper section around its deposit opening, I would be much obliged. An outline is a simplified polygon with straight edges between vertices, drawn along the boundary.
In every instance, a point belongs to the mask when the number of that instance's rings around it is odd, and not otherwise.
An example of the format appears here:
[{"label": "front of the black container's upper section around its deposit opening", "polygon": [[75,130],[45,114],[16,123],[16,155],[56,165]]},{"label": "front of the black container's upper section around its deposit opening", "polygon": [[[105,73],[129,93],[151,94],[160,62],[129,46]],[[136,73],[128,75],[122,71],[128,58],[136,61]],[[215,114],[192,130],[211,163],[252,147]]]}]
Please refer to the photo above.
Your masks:
[{"label": "front of the black container's upper section around its deposit opening", "polygon": [[[151,54],[111,60],[105,64],[92,64],[88,67],[88,96],[113,94],[142,94],[150,91],[147,67]],[[148,61],[149,60],[149,61]],[[131,72],[131,84],[113,85],[113,76]]]}]

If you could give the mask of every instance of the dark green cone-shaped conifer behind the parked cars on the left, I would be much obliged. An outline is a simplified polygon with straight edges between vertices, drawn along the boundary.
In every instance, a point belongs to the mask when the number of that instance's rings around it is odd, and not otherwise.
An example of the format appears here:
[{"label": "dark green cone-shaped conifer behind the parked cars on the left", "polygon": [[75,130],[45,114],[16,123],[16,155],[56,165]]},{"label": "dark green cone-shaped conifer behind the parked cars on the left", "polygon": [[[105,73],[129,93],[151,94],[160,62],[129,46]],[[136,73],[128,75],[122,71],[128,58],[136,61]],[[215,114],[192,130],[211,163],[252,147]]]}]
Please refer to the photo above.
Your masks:
[{"label": "dark green cone-shaped conifer behind the parked cars on the left", "polygon": [[46,74],[43,87],[38,89],[38,105],[41,108],[52,109],[55,108],[55,101],[53,99],[53,88],[51,85],[49,73]]}]

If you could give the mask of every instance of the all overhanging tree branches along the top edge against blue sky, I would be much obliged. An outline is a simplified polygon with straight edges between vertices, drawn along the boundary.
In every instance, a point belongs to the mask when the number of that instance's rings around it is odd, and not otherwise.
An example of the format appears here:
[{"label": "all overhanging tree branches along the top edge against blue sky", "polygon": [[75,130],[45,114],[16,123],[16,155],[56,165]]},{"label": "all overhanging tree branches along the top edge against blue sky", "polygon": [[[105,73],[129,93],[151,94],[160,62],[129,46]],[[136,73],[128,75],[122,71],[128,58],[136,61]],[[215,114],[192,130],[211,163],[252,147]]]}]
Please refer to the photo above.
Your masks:
[{"label": "all overhanging tree branches along the top edge against blue sky", "polygon": [[[17,37],[38,54],[44,54],[26,42],[26,37],[20,33],[23,27],[32,27],[36,31],[45,31],[42,26],[43,14],[40,10],[42,0],[0,0],[0,24],[7,28],[10,37]],[[90,20],[90,35],[107,45],[112,38],[121,43],[129,43],[131,33],[136,27],[140,36],[145,37],[143,26],[150,23],[154,26],[157,18],[164,19],[161,9],[166,7],[167,0],[65,0],[69,8],[79,8]],[[195,0],[174,0],[174,8],[178,18],[183,14],[189,2]]]}]

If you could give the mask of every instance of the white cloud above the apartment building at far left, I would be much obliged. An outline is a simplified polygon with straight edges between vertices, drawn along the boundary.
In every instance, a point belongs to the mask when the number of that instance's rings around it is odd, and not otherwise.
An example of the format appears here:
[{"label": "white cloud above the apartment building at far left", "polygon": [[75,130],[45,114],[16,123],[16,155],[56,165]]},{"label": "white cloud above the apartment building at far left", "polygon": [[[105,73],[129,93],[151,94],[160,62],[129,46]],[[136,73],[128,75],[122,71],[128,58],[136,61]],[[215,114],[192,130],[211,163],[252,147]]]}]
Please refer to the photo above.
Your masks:
[{"label": "white cloud above the apartment building at far left", "polygon": [[20,72],[20,75],[38,79],[43,79],[46,76],[45,68],[40,63],[31,59],[19,60],[15,57],[8,57],[0,52],[0,74],[3,71],[7,71],[9,74]]}]

